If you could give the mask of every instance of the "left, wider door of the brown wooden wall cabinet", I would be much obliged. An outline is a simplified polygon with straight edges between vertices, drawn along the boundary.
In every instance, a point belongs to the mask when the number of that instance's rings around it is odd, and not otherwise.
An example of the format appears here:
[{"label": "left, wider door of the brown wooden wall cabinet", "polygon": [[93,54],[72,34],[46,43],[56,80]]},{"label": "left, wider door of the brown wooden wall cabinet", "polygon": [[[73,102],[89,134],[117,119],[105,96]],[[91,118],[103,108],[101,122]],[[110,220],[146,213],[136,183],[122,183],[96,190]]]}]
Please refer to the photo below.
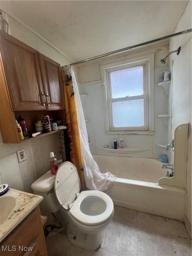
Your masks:
[{"label": "left, wider door of the brown wooden wall cabinet", "polygon": [[38,52],[2,31],[0,45],[12,110],[46,109]]}]

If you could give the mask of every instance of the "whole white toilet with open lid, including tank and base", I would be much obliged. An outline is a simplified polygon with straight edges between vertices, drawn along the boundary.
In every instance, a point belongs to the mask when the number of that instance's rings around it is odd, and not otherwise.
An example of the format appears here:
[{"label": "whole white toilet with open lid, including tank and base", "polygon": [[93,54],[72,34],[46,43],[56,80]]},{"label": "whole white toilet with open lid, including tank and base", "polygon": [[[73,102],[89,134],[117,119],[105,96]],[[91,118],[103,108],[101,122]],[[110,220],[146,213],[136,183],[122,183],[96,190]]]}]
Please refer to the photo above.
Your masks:
[{"label": "whole white toilet with open lid, including tank and base", "polygon": [[63,163],[56,175],[48,171],[31,188],[43,196],[43,209],[57,213],[70,243],[89,250],[100,248],[103,230],[113,218],[113,201],[97,190],[79,193],[80,180],[72,163]]}]

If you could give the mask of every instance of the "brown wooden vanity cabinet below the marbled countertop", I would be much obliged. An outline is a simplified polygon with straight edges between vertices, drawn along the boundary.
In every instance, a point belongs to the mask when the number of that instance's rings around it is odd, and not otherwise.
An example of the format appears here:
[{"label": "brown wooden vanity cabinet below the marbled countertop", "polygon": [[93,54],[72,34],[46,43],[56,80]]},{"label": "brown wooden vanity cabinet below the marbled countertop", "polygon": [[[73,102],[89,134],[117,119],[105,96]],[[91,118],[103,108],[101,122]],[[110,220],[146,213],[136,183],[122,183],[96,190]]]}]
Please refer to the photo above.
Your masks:
[{"label": "brown wooden vanity cabinet below the marbled countertop", "polygon": [[[32,250],[27,250],[27,247]],[[7,249],[2,251],[2,248]],[[0,254],[2,256],[47,256],[39,206],[0,243]]]}]

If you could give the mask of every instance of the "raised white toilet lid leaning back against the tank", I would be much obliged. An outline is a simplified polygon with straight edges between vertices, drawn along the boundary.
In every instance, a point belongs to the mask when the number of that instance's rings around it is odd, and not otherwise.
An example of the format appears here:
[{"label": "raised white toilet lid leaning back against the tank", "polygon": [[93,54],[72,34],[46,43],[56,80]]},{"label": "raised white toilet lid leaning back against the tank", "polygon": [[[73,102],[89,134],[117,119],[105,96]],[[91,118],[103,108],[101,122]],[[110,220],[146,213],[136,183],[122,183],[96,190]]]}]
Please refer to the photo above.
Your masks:
[{"label": "raised white toilet lid leaning back against the tank", "polygon": [[75,193],[80,191],[79,175],[72,163],[60,165],[55,176],[54,190],[60,205],[67,210],[68,204],[76,197]]}]

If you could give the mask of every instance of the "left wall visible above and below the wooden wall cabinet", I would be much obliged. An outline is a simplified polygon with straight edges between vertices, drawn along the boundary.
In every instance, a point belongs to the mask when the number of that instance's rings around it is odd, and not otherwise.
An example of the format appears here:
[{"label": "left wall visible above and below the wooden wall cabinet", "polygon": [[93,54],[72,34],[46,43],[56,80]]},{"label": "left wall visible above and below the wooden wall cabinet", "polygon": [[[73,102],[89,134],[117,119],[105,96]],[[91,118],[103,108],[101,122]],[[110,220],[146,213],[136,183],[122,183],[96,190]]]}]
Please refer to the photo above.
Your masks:
[{"label": "left wall visible above and below the wooden wall cabinet", "polygon": [[[61,65],[70,63],[65,56],[56,51],[19,22],[5,13],[3,13],[3,17],[9,23],[9,34]],[[17,163],[17,161],[15,162],[14,153],[16,153],[16,150],[22,148],[25,148],[27,160],[22,163]],[[37,137],[30,142],[23,142],[21,144],[5,144],[3,143],[0,134],[0,164],[2,163],[0,165],[0,167],[2,167],[0,169],[0,178],[2,179],[2,182],[11,184],[11,187],[13,188],[15,187],[26,192],[32,192],[31,184],[49,170],[49,153],[52,151],[55,154],[60,153],[58,133],[42,138]],[[5,156],[9,157],[4,158]],[[5,161],[7,161],[6,168],[3,168],[3,166],[5,166]],[[16,173],[16,170],[19,170],[19,172]],[[9,176],[6,175],[7,172],[10,173]]]}]

